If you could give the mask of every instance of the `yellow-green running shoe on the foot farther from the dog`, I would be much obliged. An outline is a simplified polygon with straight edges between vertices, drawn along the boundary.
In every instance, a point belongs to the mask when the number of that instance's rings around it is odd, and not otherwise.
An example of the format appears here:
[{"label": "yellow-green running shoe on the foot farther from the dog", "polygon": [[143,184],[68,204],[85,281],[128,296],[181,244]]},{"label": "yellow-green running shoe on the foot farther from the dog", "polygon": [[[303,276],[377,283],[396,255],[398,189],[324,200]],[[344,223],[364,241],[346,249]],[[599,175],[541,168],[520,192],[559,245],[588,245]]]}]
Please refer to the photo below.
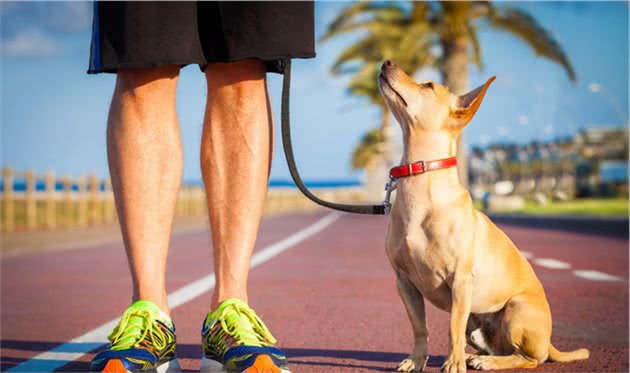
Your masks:
[{"label": "yellow-green running shoe on the foot farther from the dog", "polygon": [[134,302],[109,335],[109,346],[90,364],[92,372],[179,372],[175,326],[153,302]]}]

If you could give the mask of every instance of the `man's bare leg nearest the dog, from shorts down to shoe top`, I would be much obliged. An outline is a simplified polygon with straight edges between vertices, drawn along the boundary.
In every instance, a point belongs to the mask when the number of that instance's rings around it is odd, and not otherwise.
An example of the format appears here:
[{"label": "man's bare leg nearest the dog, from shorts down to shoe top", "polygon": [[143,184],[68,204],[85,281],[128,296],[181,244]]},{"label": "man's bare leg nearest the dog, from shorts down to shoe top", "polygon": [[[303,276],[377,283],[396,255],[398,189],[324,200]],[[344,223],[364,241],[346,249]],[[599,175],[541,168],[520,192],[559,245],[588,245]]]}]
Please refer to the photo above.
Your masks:
[{"label": "man's bare leg nearest the dog, from shorts down to shoe top", "polygon": [[212,64],[201,140],[214,270],[212,309],[247,302],[247,276],[267,191],[273,119],[262,62]]}]

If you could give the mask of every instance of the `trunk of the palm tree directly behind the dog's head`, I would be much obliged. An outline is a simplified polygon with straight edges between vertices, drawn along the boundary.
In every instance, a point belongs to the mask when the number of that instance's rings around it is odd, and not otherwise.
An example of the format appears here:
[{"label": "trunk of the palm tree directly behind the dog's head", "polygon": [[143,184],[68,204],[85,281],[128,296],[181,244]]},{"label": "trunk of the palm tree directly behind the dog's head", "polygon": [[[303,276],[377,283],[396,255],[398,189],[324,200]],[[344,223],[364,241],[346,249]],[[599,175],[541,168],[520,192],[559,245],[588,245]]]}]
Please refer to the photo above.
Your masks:
[{"label": "trunk of the palm tree directly behind the dog's head", "polygon": [[[454,94],[461,95],[469,89],[468,81],[468,39],[459,37],[441,40],[442,61],[440,73],[442,82]],[[464,148],[464,134],[457,139],[457,173],[459,181],[464,187],[468,186],[468,156]]]}]

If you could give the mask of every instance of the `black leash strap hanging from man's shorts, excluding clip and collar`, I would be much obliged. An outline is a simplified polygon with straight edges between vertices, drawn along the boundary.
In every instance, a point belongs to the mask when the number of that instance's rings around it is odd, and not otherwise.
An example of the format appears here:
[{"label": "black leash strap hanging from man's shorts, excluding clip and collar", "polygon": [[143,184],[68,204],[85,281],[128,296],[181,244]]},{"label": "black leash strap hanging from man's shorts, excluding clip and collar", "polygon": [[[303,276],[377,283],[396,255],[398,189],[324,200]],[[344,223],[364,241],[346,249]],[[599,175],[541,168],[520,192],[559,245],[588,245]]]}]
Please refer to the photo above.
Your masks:
[{"label": "black leash strap hanging from man's shorts, excluding clip and collar", "polygon": [[302,182],[300,173],[297,170],[295,164],[295,157],[293,156],[293,145],[291,144],[291,126],[289,123],[289,93],[291,91],[291,59],[284,61],[284,77],[282,78],[282,114],[281,114],[281,128],[282,128],[282,147],[284,148],[284,155],[287,159],[289,166],[289,172],[291,177],[297,185],[298,189],[311,201],[318,205],[331,208],[333,210],[350,212],[353,214],[367,214],[367,215],[385,215],[389,210],[387,206],[382,205],[347,205],[342,203],[335,203],[325,201],[315,194],[313,194]]}]

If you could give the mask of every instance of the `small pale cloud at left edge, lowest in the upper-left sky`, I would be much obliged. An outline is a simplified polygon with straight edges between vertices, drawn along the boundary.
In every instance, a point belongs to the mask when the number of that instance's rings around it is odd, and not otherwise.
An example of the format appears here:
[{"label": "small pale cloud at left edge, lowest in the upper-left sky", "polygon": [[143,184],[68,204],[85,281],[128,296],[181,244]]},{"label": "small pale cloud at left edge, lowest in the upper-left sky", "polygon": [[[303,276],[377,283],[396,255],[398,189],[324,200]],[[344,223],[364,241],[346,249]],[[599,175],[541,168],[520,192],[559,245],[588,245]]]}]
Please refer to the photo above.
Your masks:
[{"label": "small pale cloud at left edge, lowest in the upper-left sky", "polygon": [[61,48],[54,40],[38,29],[20,31],[13,37],[2,39],[0,54],[11,57],[41,57],[56,54]]}]

